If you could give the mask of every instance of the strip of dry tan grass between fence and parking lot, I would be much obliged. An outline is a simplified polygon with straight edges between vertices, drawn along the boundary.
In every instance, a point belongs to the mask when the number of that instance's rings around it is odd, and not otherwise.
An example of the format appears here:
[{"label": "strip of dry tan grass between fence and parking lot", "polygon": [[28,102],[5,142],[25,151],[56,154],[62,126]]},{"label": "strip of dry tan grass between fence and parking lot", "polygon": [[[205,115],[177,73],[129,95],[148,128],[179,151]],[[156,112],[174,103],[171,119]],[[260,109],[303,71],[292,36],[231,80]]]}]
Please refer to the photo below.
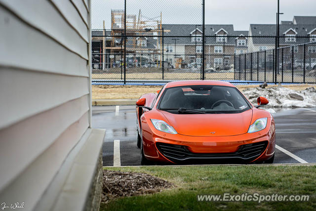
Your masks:
[{"label": "strip of dry tan grass between fence and parking lot", "polygon": [[[268,85],[272,87],[276,85]],[[304,90],[316,84],[293,84],[282,85],[293,90]],[[141,95],[156,92],[162,86],[158,85],[92,85],[92,99],[138,99]],[[237,85],[239,90],[249,87],[258,87],[258,85]]]}]

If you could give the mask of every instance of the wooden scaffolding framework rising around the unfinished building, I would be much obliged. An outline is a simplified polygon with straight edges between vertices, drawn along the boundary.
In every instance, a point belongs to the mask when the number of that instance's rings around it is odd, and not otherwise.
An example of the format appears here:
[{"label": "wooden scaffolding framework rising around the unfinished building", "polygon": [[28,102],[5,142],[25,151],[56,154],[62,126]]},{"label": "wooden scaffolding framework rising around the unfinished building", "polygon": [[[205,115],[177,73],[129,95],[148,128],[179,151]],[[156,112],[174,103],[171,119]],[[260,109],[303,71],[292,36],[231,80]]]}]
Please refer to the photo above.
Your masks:
[{"label": "wooden scaffolding framework rising around the unfinished building", "polygon": [[[136,54],[160,55],[159,66],[161,67],[162,38],[146,37],[162,36],[161,20],[161,12],[158,17],[154,18],[148,18],[142,15],[141,10],[139,10],[138,18],[136,15],[126,15],[126,53],[133,54],[134,61],[136,59]],[[111,10],[111,46],[105,47],[106,49],[110,49],[111,55],[117,55],[118,52],[124,48],[123,32],[124,10]],[[167,31],[165,30],[165,32]],[[156,43],[150,47],[148,46],[148,42]],[[113,67],[115,59],[116,57],[111,58],[111,67]],[[140,56],[140,66],[142,66],[141,59],[142,56]],[[156,60],[157,59],[158,58],[156,58]],[[134,62],[135,66],[136,64],[137,62]]]}]

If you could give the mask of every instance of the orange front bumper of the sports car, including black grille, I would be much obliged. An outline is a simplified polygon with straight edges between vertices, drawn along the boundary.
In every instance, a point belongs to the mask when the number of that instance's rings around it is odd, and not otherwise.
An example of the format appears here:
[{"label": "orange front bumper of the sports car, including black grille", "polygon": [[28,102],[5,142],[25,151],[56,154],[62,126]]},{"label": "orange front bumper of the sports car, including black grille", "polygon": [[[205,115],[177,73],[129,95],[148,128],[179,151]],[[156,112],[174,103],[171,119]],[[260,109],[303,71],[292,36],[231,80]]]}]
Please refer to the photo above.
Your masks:
[{"label": "orange front bumper of the sports car, including black grille", "polygon": [[268,160],[275,153],[275,131],[264,130],[233,136],[186,136],[142,128],[143,149],[148,160],[174,164],[252,163]]}]

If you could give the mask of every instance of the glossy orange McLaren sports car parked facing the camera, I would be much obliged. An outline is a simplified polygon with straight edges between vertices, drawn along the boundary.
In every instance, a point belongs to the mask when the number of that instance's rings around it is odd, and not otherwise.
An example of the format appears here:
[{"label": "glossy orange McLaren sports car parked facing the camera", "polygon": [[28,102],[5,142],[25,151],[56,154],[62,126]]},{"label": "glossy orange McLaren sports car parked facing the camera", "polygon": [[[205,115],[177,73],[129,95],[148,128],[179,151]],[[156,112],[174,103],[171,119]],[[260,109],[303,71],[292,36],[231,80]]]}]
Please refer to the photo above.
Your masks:
[{"label": "glossy orange McLaren sports car parked facing the camera", "polygon": [[142,165],[273,163],[272,115],[231,83],[179,81],[136,103],[137,146]]}]

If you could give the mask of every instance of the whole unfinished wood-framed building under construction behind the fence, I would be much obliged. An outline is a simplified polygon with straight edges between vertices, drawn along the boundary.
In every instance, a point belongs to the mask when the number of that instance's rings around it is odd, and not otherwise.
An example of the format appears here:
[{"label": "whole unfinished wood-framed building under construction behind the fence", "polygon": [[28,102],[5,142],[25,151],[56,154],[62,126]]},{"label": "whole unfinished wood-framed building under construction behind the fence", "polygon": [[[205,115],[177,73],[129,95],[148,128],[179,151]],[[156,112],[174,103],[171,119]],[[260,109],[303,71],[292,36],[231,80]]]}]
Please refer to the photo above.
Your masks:
[{"label": "whole unfinished wood-framed building under construction behind the fence", "polygon": [[[106,30],[105,23],[103,23],[103,31],[99,31],[98,34],[100,34],[100,38],[94,37],[93,39],[100,42],[95,46],[95,52],[99,52],[99,57],[98,53],[95,53],[95,58],[100,64],[103,63],[102,69],[120,66],[125,45],[124,10],[111,10],[111,30]],[[101,35],[106,37],[101,37]],[[141,10],[139,10],[138,16],[126,15],[126,65],[142,67],[146,63],[146,65],[155,64],[160,67],[162,38],[153,36],[161,35],[161,12],[158,17],[154,18],[142,15]],[[103,56],[101,57],[101,55]]]}]

